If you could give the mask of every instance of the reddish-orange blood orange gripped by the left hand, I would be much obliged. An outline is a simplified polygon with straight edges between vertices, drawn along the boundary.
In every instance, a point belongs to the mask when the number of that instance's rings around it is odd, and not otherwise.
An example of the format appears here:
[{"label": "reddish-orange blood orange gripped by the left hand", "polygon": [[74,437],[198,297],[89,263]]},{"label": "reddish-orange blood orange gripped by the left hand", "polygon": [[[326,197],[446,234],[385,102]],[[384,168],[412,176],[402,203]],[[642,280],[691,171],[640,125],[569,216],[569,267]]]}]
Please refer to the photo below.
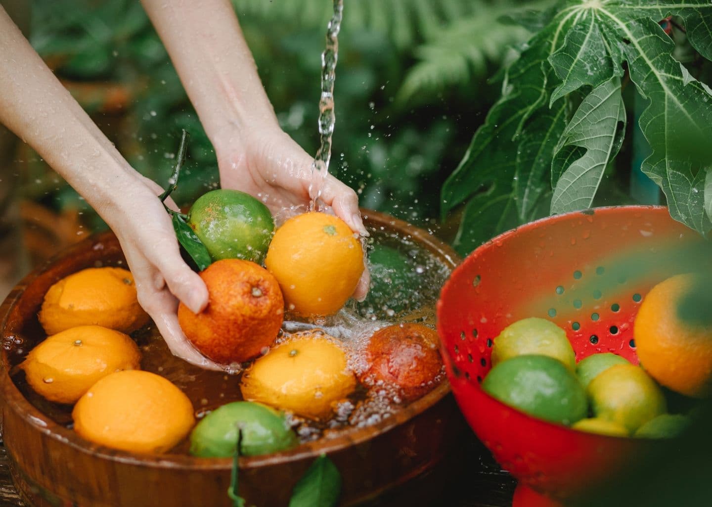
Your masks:
[{"label": "reddish-orange blood orange gripped by the left hand", "polygon": [[193,313],[181,303],[178,322],[202,354],[229,365],[256,357],[274,343],[284,300],[265,268],[231,258],[212,263],[200,277],[208,288],[208,305]]}]

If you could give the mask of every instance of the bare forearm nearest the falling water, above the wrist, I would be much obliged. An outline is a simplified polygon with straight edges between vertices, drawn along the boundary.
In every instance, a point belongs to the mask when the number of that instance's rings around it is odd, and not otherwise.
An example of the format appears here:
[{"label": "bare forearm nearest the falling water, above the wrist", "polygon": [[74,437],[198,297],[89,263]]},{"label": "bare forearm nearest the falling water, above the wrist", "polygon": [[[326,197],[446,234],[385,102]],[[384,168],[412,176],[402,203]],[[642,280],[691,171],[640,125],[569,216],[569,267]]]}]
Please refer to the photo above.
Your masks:
[{"label": "bare forearm nearest the falling water, above the wrist", "polygon": [[142,0],[210,140],[277,126],[229,0]]}]

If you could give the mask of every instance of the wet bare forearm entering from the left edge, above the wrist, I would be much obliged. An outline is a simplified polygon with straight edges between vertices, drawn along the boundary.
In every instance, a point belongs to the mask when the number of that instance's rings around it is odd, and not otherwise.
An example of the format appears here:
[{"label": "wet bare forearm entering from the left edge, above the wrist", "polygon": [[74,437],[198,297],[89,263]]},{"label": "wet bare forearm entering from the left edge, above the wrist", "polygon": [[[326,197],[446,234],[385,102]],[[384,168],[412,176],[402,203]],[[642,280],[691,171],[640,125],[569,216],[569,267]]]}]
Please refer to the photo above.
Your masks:
[{"label": "wet bare forearm entering from the left edge, above the wrist", "polygon": [[0,122],[31,145],[100,214],[108,214],[102,211],[135,185],[137,174],[1,7]]}]

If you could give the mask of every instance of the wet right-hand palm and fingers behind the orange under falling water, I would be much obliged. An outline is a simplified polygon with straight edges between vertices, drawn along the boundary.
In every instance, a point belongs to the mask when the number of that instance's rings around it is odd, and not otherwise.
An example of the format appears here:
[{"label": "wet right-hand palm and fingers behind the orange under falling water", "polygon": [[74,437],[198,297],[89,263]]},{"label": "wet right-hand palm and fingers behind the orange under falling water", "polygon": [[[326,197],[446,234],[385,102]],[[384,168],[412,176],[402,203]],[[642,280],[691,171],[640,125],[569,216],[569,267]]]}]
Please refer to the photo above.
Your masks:
[{"label": "wet right-hand palm and fingers behind the orange under falling water", "polygon": [[[248,132],[246,132],[248,130]],[[313,157],[276,126],[261,129],[228,129],[214,140],[221,186],[261,199],[276,213],[288,207],[307,206],[310,185],[323,177],[313,172]],[[357,234],[367,236],[358,208],[358,197],[350,187],[327,174],[320,200],[333,209]],[[370,275],[365,269],[353,297],[364,300]]]}]

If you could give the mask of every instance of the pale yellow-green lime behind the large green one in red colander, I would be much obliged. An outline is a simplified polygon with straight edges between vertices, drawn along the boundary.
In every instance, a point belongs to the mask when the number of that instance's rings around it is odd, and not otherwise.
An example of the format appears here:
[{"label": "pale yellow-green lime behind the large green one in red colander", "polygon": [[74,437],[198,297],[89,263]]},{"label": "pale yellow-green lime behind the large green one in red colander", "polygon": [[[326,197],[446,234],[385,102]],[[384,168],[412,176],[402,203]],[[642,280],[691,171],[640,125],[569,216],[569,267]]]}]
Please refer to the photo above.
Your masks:
[{"label": "pale yellow-green lime behind the large green one in red colander", "polygon": [[525,318],[508,325],[494,340],[492,365],[518,355],[548,355],[575,370],[576,355],[566,333],[549,320]]}]

